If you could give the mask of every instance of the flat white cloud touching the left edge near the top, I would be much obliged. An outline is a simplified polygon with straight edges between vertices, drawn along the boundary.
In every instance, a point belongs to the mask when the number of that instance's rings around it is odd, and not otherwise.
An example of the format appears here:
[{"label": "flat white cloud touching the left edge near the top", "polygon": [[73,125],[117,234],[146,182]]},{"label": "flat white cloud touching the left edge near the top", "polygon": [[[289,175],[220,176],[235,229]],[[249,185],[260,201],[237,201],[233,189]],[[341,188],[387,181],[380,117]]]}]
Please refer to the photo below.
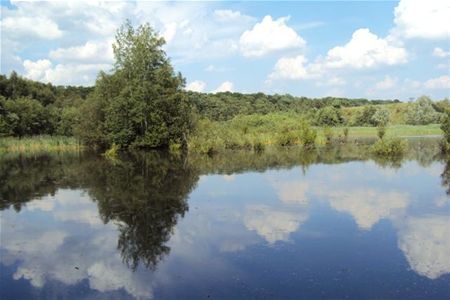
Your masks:
[{"label": "flat white cloud touching the left edge near the top", "polygon": [[0,21],[0,26],[2,31],[13,32],[19,36],[52,40],[63,35],[58,25],[46,17],[6,17]]}]

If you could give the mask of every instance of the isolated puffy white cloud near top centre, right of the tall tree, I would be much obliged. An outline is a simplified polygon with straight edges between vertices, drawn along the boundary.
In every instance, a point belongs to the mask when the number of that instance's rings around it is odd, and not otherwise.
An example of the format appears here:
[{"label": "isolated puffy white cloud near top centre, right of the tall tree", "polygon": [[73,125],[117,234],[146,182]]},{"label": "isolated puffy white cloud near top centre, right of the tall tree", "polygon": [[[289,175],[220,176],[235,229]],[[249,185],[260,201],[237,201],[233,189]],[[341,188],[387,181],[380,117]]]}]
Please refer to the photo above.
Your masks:
[{"label": "isolated puffy white cloud near top centre, right of the tall tree", "polygon": [[260,57],[268,53],[303,47],[306,42],[294,29],[286,25],[288,18],[272,20],[271,16],[246,30],[239,39],[240,49],[246,57]]}]

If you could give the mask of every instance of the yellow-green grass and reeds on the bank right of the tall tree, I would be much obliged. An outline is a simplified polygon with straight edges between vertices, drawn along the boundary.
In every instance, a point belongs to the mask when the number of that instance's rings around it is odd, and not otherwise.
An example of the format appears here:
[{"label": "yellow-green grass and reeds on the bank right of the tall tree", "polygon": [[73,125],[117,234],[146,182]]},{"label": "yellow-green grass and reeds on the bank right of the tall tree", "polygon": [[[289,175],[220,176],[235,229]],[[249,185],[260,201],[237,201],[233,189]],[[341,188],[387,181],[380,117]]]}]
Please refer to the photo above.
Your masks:
[{"label": "yellow-green grass and reeds on the bank right of the tall tree", "polygon": [[[438,124],[387,126],[387,138],[442,135]],[[200,120],[190,136],[192,152],[213,154],[222,150],[261,151],[266,146],[327,145],[361,138],[377,138],[375,127],[310,127],[299,115],[276,113],[237,116],[228,121]]]}]

